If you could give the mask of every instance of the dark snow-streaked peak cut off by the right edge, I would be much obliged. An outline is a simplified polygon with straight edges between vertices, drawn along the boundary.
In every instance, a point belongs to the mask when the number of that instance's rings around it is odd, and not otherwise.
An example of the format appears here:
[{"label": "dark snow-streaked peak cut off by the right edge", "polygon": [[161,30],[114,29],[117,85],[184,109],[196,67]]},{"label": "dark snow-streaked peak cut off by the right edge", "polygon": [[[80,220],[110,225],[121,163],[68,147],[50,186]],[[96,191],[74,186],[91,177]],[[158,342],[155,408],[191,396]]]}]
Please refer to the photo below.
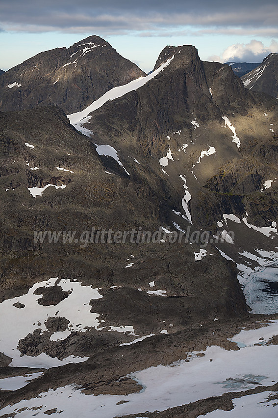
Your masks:
[{"label": "dark snow-streaked peak cut off by the right edge", "polygon": [[278,98],[278,54],[269,54],[253,71],[241,77],[246,89]]}]

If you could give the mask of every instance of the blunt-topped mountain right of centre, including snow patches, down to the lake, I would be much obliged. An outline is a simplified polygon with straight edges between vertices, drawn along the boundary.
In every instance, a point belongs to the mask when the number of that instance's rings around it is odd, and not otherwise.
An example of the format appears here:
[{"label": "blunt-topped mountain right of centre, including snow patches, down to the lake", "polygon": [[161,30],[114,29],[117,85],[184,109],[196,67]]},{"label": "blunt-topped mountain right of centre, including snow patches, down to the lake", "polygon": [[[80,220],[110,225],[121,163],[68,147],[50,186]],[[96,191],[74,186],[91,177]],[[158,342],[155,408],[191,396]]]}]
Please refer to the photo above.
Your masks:
[{"label": "blunt-topped mountain right of centre, including snow patches, down to the lake", "polygon": [[175,190],[169,225],[220,235],[216,246],[246,287],[248,274],[277,257],[277,100],[244,89],[230,66],[202,62],[191,46],[166,47],[154,70],[162,67],[143,87],[84,110],[79,122],[70,118],[94,132],[98,146],[128,155],[125,164],[147,161]]}]

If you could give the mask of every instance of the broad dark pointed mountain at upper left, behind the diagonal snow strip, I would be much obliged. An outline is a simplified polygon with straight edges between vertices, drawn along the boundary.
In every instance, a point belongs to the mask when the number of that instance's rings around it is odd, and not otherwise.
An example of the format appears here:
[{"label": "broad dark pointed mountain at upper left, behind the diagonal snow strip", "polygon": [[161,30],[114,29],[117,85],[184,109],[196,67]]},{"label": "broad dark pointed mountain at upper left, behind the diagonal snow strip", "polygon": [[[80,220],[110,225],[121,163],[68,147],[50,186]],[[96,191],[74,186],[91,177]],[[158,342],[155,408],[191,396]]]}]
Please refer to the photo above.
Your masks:
[{"label": "broad dark pointed mountain at upper left, behind the diagonal snow strip", "polygon": [[42,52],[0,79],[0,111],[59,105],[66,113],[86,108],[106,91],[145,76],[99,36],[70,48]]}]

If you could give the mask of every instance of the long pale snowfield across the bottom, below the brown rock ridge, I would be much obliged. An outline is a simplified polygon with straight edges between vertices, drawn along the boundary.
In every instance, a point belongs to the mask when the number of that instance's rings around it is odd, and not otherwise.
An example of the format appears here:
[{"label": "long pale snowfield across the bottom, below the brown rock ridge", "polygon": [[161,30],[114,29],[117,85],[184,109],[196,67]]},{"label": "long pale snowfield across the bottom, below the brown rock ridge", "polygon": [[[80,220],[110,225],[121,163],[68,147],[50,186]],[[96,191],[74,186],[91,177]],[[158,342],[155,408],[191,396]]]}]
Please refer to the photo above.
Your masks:
[{"label": "long pale snowfield across the bottom, below the brown rock ridge", "polygon": [[[273,385],[273,381],[277,381],[277,369],[274,365],[277,361],[278,346],[266,343],[276,334],[278,321],[272,321],[268,326],[242,330],[235,335],[232,341],[240,347],[238,350],[227,351],[218,346],[211,346],[202,353],[203,357],[197,356],[198,352],[191,353],[189,362],[180,360],[168,366],[158,365],[131,373],[128,377],[143,387],[139,393],[126,396],[94,396],[85,395],[73,386],[66,386],[56,390],[50,389],[42,392],[37,398],[7,406],[1,413],[15,413],[16,417],[29,418],[32,408],[36,407],[36,416],[39,418],[45,417],[45,412],[52,408],[57,408],[59,417],[76,418],[82,411],[83,418],[114,418],[128,414],[165,411],[199,399],[220,396],[225,392],[246,391],[257,387],[258,383],[264,386]],[[145,338],[148,337],[150,336]],[[263,402],[268,395],[269,392],[263,392],[236,399],[235,410],[214,411],[211,417],[228,418],[228,414],[232,414],[231,416],[238,418],[241,416],[237,415],[239,406],[241,409],[241,405],[246,403],[249,407],[247,410],[243,409],[244,417],[250,417],[246,415],[248,411],[256,414],[252,415],[252,418],[277,417],[278,406],[269,408],[272,415],[268,411],[269,415],[264,415],[266,403],[258,403]],[[119,404],[120,401],[125,403]],[[273,404],[274,402],[271,403]],[[22,408],[26,410],[23,411]]]}]

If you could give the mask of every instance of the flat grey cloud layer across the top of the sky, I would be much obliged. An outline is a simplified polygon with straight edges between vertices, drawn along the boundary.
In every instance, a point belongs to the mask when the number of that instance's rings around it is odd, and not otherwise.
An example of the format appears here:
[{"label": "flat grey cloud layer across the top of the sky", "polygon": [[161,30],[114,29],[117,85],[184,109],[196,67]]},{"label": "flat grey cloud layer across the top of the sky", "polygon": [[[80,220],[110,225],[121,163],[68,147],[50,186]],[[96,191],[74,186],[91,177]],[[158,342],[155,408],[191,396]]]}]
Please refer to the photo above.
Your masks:
[{"label": "flat grey cloud layer across the top of the sky", "polygon": [[183,35],[182,26],[188,25],[200,36],[209,30],[215,33],[214,29],[219,33],[249,31],[253,36],[259,31],[277,36],[278,31],[277,0],[264,4],[259,0],[234,0],[232,5],[223,0],[25,0],[24,6],[22,0],[2,0],[0,16],[5,30],[30,32],[112,34],[135,30],[149,36],[161,36],[164,31],[167,36],[177,36]]}]

